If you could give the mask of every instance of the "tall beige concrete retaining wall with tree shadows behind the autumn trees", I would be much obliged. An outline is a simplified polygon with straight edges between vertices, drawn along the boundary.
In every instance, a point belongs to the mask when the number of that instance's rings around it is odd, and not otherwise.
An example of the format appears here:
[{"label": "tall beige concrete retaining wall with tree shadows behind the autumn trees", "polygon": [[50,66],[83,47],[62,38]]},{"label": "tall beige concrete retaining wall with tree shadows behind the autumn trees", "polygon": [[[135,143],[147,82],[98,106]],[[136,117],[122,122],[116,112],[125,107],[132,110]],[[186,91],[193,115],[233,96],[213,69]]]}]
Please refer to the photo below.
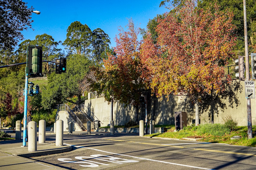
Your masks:
[{"label": "tall beige concrete retaining wall with tree shadows behind the autumn trees", "polygon": [[[234,80],[226,86],[226,91],[221,96],[214,96],[211,99],[202,100],[199,105],[199,119],[201,124],[223,123],[223,119],[231,115],[238,121],[239,126],[247,126],[247,99],[245,98],[244,82]],[[194,105],[186,96],[169,96],[169,101],[151,96],[150,92],[145,93],[148,99],[148,123],[154,120],[155,125],[174,124],[174,114],[178,111],[187,112],[187,124],[191,125],[195,119]],[[96,117],[101,121],[101,126],[110,124],[111,104],[104,101],[104,98],[86,100],[84,103]],[[212,106],[212,107],[211,107]],[[251,99],[252,125],[256,124],[256,99]],[[145,105],[141,104],[138,120],[145,120]],[[212,108],[212,109],[211,109]],[[85,111],[87,108],[85,107]],[[124,125],[133,119],[135,109],[131,106],[124,107],[120,103],[113,104],[113,121],[115,125]]]}]

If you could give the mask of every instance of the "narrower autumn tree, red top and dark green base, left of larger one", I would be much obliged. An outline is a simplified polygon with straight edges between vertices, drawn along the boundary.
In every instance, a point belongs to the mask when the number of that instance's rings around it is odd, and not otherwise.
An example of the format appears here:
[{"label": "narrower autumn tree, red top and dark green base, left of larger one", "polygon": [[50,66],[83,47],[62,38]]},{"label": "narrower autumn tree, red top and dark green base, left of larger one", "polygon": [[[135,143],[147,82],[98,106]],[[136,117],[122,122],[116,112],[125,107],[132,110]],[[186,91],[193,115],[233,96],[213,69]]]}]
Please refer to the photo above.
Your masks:
[{"label": "narrower autumn tree, red top and dark green base, left of larger one", "polygon": [[139,97],[145,85],[140,70],[140,46],[138,40],[139,29],[129,20],[127,31],[122,27],[115,37],[115,55],[109,55],[103,60],[105,70],[96,70],[94,90],[104,93],[107,101],[119,101],[125,106],[131,104],[136,109],[135,121],[138,122]]}]

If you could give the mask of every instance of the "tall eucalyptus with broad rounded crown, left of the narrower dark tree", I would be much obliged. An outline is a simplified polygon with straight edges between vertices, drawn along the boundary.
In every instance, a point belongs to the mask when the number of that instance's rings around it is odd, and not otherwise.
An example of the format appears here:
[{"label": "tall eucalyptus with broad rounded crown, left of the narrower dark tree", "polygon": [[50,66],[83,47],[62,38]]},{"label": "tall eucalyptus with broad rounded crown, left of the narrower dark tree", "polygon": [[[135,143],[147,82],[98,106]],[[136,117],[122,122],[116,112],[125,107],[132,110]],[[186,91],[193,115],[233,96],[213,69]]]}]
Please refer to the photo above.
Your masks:
[{"label": "tall eucalyptus with broad rounded crown, left of the narrower dark tree", "polygon": [[72,22],[67,29],[67,38],[63,45],[73,54],[88,55],[91,52],[92,31],[87,24]]}]

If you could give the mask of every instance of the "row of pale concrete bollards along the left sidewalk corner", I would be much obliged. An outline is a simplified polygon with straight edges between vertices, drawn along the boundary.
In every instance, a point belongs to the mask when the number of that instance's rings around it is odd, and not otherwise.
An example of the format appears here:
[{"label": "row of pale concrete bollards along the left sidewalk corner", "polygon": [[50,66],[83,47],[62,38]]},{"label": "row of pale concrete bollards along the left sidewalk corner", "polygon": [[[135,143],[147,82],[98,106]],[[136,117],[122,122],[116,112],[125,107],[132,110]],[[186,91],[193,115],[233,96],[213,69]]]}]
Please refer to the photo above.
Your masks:
[{"label": "row of pale concrete bollards along the left sidewalk corner", "polygon": [[[15,139],[21,139],[21,121],[16,121],[16,132]],[[72,125],[72,124],[71,124]],[[72,127],[72,126],[71,126]],[[71,129],[72,130],[72,129]],[[45,143],[45,132],[46,132],[46,121],[39,121],[38,129],[38,143]],[[56,133],[56,146],[63,146],[63,121],[57,120],[54,123],[54,133]],[[35,121],[30,121],[28,123],[28,151],[37,151],[37,123]]]}]

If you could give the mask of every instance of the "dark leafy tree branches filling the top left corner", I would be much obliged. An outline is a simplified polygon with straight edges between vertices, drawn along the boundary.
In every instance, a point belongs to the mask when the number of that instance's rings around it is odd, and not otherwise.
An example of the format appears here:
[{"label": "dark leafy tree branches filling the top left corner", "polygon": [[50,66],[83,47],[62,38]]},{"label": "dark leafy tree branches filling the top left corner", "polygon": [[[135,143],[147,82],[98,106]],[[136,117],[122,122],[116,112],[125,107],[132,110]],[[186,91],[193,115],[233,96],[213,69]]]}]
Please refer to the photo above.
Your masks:
[{"label": "dark leafy tree branches filling the top left corner", "polygon": [[0,50],[13,49],[23,40],[21,31],[31,28],[32,10],[22,0],[0,1]]}]

